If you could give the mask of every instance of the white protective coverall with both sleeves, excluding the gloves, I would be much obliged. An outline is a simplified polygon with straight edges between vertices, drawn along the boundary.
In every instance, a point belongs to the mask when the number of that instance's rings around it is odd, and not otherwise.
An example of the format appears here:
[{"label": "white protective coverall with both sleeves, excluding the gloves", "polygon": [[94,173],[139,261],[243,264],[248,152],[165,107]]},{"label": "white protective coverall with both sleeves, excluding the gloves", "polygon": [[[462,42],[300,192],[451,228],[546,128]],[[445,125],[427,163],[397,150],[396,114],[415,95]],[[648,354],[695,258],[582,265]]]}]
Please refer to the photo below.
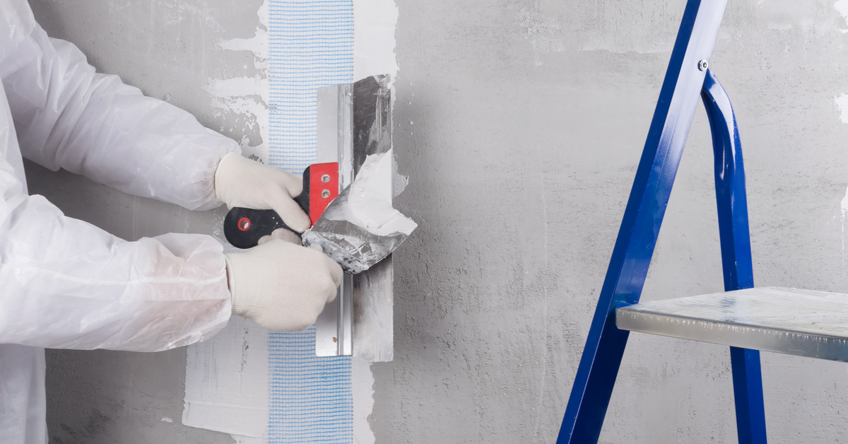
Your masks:
[{"label": "white protective coverall with both sleeves, excluding the gloves", "polygon": [[47,37],[25,0],[0,0],[0,441],[47,442],[44,348],[159,351],[231,315],[221,244],[128,242],[27,193],[21,155],[126,193],[204,210],[237,143],[95,73]]}]

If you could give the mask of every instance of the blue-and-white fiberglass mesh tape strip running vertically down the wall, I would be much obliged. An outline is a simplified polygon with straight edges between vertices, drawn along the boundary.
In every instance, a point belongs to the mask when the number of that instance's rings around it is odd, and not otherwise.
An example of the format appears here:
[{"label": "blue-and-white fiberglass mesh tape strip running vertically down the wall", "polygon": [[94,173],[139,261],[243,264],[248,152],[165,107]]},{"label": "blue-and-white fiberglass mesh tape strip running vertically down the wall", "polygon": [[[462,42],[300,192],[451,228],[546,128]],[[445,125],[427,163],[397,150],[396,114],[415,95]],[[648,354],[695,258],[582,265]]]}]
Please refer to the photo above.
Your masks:
[{"label": "blue-and-white fiberglass mesh tape strip running vertically down the wall", "polygon": [[[300,174],[316,158],[319,87],[353,80],[351,1],[270,0],[269,163]],[[315,328],[271,333],[269,442],[353,441],[349,357],[316,357]]]}]

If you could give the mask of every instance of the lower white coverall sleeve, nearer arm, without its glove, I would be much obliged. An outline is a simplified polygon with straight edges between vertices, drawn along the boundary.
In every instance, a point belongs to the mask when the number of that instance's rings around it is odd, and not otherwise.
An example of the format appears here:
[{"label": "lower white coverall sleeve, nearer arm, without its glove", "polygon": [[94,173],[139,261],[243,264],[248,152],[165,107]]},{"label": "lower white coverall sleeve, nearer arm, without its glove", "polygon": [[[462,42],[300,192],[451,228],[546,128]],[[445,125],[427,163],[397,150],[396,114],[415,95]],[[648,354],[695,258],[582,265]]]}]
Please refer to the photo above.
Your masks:
[{"label": "lower white coverall sleeve, nearer arm, without its glove", "polygon": [[[0,151],[14,149],[5,113]],[[232,312],[221,248],[200,234],[118,239],[26,195],[0,156],[0,343],[158,351],[203,340]]]}]

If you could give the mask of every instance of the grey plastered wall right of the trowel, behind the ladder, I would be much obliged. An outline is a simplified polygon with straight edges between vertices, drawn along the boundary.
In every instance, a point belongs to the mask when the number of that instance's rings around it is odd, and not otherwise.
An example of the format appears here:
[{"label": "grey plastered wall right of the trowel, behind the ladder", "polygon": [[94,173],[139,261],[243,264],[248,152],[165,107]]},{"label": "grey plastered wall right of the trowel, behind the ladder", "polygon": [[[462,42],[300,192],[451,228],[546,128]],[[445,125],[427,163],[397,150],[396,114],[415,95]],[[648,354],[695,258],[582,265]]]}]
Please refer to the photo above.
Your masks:
[{"label": "grey plastered wall right of the trowel, behind the ladder", "polygon": [[[420,227],[395,255],[379,443],[552,442],[683,0],[398,0],[395,145]],[[848,28],[834,2],[729,2],[759,285],[848,289]],[[722,290],[697,111],[644,300]],[[632,334],[602,442],[734,442],[726,347]],[[769,438],[848,440],[845,364],[763,353]]]}]

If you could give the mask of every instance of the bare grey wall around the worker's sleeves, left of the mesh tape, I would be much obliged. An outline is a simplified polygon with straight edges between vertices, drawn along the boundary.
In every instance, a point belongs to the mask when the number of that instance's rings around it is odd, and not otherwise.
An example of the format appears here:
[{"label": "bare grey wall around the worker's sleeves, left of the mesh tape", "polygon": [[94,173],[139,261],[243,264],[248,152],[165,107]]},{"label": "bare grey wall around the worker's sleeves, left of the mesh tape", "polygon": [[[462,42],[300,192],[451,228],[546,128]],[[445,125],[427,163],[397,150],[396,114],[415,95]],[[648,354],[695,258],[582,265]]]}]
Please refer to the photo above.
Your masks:
[{"label": "bare grey wall around the worker's sleeves, left of the mesh tape", "polygon": [[[261,0],[130,2],[32,0],[52,37],[75,42],[101,72],[120,75],[150,96],[186,109],[206,126],[251,144],[257,132],[211,106],[210,78],[254,75],[254,55],[215,44],[249,38]],[[169,232],[213,233],[223,213],[192,212],[134,198],[76,177],[27,165],[31,193],[69,216],[125,239]],[[220,233],[220,230],[218,230]],[[230,436],[181,424],[186,351],[48,351],[47,422],[51,442],[232,443]],[[167,422],[170,419],[172,422]]]}]

